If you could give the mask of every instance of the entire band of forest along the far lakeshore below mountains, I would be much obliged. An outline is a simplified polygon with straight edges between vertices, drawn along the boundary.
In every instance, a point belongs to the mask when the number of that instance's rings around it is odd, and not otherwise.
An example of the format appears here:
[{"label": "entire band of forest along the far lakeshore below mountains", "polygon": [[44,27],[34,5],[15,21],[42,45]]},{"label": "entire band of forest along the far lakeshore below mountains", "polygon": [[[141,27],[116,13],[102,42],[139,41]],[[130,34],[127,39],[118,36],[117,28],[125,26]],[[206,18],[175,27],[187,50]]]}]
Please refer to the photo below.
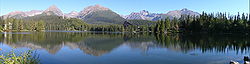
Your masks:
[{"label": "entire band of forest along the far lakeshore below mountains", "polygon": [[[128,20],[124,24],[87,24],[76,18],[39,16],[24,19],[0,19],[1,31],[111,31],[111,32],[154,32],[154,33],[249,33],[248,14],[202,13],[200,16],[182,15],[180,18],[159,21]],[[125,23],[125,22],[124,22]]]}]

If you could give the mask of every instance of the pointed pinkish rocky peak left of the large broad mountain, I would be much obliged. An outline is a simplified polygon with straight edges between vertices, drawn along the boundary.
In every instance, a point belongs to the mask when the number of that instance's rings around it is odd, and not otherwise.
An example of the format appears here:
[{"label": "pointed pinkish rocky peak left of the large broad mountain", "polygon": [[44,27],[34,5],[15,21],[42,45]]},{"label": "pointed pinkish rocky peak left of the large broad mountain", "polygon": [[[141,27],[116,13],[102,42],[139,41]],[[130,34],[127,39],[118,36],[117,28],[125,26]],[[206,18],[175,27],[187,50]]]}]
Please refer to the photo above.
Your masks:
[{"label": "pointed pinkish rocky peak left of the large broad mountain", "polygon": [[62,11],[57,8],[57,6],[52,5],[48,9],[46,9],[43,14],[45,15],[57,15],[57,16],[63,16]]}]

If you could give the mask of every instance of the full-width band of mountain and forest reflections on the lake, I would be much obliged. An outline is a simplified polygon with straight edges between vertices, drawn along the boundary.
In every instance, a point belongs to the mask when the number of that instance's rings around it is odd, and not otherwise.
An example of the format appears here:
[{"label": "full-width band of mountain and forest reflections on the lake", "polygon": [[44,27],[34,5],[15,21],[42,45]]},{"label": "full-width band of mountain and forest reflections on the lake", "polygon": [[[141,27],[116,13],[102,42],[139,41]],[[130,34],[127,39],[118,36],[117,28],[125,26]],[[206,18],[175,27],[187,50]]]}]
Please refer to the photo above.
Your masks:
[{"label": "full-width band of mountain and forest reflections on the lake", "polygon": [[149,48],[166,48],[168,50],[189,53],[201,52],[249,53],[250,37],[226,35],[153,35],[120,34],[91,32],[32,32],[30,34],[0,34],[0,41],[8,46],[33,49],[45,49],[56,54],[64,46],[80,49],[85,54],[101,56],[126,45],[147,51]]}]

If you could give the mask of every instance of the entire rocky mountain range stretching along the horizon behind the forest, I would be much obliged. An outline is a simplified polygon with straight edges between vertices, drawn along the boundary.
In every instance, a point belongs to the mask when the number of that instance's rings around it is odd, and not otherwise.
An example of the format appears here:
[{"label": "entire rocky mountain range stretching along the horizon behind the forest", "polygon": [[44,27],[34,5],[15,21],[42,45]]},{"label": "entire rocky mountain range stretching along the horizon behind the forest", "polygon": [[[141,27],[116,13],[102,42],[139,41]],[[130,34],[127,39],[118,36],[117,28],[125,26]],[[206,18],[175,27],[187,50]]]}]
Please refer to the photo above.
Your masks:
[{"label": "entire rocky mountain range stretching along the horizon behind the forest", "polygon": [[[84,20],[89,24],[123,24],[126,20],[149,20],[149,21],[158,21],[160,19],[165,19],[169,17],[180,18],[181,15],[192,15],[198,16],[200,15],[198,12],[194,12],[187,8],[181,10],[169,11],[167,13],[150,13],[149,11],[142,10],[140,12],[133,12],[130,15],[122,16],[119,15],[109,8],[103,7],[101,5],[94,5],[84,8],[80,12],[72,11],[70,13],[64,14],[57,6],[52,5],[46,10],[32,10],[32,11],[14,11],[9,14],[3,15],[3,18],[35,18],[39,19],[39,17],[46,16],[63,16],[66,18],[79,18]],[[34,16],[34,17],[33,17]],[[26,18],[27,19],[27,18]]]}]

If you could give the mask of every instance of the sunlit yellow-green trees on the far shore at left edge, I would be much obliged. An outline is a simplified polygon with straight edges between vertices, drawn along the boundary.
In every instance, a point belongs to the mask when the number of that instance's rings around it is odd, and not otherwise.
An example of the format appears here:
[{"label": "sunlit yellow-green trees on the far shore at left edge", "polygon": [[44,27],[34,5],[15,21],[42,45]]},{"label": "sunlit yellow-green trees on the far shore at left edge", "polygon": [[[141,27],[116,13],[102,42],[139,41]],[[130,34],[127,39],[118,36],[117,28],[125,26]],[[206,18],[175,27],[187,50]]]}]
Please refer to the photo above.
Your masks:
[{"label": "sunlit yellow-green trees on the far shore at left edge", "polygon": [[0,31],[42,31],[45,30],[45,22],[23,21],[22,19],[0,19]]}]

